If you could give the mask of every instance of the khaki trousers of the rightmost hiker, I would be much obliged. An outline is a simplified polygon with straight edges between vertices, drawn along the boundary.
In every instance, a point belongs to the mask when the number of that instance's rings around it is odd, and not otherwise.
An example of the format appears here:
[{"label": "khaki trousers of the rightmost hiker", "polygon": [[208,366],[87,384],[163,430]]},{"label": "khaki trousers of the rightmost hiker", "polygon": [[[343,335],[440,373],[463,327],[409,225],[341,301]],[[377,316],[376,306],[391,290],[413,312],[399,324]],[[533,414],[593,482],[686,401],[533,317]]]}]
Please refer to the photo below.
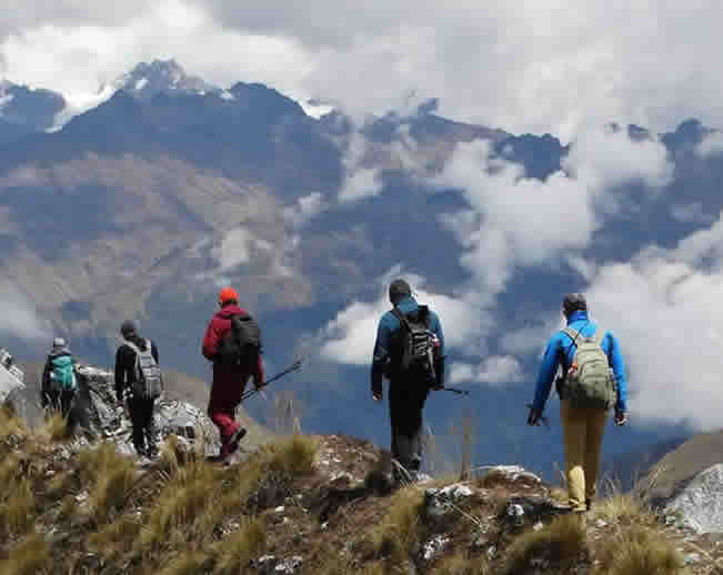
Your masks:
[{"label": "khaki trousers of the rightmost hiker", "polygon": [[592,501],[595,496],[607,412],[574,408],[563,400],[560,402],[560,418],[565,442],[570,506],[573,511],[585,511],[585,500]]}]

